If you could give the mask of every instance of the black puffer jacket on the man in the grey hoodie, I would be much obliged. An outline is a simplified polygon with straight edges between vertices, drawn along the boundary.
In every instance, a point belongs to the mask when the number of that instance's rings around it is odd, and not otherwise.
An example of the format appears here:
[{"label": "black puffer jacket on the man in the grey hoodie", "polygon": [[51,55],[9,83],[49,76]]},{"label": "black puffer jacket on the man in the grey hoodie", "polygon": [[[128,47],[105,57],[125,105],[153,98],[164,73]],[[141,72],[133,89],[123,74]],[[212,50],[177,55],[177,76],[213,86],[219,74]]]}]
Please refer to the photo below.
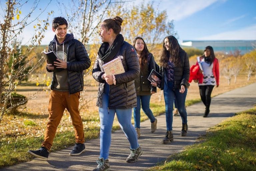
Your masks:
[{"label": "black puffer jacket on the man in the grey hoodie", "polygon": [[[56,43],[51,41],[49,43],[49,51],[56,52]],[[76,40],[71,39],[68,41],[67,46],[67,70],[68,70],[68,82],[69,93],[74,94],[79,91],[83,91],[84,88],[84,70],[91,66],[91,60],[87,54],[84,45]],[[46,68],[47,69],[47,68]],[[52,72],[48,70],[48,72]],[[53,84],[57,81],[55,73],[53,73],[53,79],[51,83],[51,90],[53,90]]]}]

